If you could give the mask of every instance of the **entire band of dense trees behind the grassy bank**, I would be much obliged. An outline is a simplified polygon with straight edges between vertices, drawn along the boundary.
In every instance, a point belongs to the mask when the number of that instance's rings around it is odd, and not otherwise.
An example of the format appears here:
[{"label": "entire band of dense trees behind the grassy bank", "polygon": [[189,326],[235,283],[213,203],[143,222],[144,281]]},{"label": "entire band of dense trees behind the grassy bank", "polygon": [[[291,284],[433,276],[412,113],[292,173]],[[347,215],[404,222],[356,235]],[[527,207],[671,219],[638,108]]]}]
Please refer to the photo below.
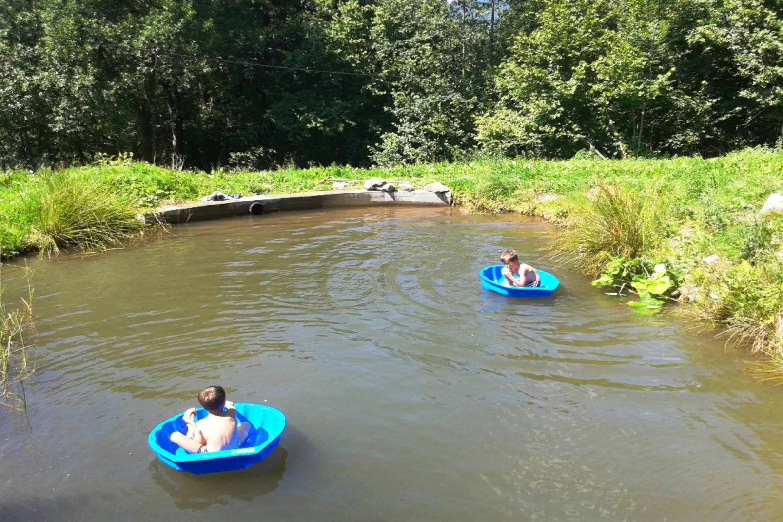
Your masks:
[{"label": "entire band of dense trees behind the grassy bank", "polygon": [[773,0],[4,0],[0,65],[0,168],[714,155],[783,136]]}]

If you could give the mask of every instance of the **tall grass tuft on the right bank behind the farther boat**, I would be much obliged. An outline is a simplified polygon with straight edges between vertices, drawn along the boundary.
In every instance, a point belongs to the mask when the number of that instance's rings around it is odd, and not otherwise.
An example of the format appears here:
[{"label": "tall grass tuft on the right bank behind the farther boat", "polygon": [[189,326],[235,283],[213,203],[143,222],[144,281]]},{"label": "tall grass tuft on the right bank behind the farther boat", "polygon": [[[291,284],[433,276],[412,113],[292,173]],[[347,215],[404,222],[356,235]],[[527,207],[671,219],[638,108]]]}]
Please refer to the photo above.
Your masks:
[{"label": "tall grass tuft on the right bank behind the farther boat", "polygon": [[549,256],[596,276],[612,258],[642,258],[658,248],[666,237],[664,218],[658,190],[599,184],[568,212]]}]

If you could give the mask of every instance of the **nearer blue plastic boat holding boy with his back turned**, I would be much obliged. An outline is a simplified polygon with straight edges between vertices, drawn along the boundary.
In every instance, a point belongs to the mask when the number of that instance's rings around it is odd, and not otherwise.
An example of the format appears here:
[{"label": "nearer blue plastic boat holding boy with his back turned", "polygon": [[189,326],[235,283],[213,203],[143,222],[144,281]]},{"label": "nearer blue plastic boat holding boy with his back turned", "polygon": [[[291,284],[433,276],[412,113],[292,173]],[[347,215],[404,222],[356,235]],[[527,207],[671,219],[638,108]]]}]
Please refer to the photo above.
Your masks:
[{"label": "nearer blue plastic boat holding boy with his back turned", "polygon": [[[253,426],[247,439],[234,450],[212,451],[211,453],[190,454],[169,440],[171,433],[187,432],[182,413],[164,420],[150,432],[147,440],[158,459],[177,471],[187,471],[194,475],[218,473],[220,471],[236,471],[261,462],[272,450],[280,444],[280,436],[286,429],[286,416],[282,411],[262,404],[234,404],[236,419],[240,422],[250,422]],[[196,419],[204,419],[207,411],[204,408],[196,410]]]}]

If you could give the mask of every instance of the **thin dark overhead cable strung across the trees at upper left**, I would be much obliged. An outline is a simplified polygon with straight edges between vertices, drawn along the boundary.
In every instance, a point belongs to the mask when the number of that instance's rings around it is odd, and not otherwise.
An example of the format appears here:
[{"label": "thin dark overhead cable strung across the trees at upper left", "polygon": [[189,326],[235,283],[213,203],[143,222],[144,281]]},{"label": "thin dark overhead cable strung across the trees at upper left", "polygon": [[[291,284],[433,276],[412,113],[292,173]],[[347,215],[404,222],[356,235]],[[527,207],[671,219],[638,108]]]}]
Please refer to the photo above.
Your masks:
[{"label": "thin dark overhead cable strung across the trees at upper left", "polygon": [[132,51],[134,53],[146,52],[150,53],[153,56],[169,56],[172,58],[182,58],[185,60],[197,60],[197,61],[206,61],[206,62],[215,62],[215,63],[228,63],[231,65],[241,65],[244,67],[260,67],[264,69],[278,69],[283,71],[298,71],[298,72],[305,72],[305,73],[313,73],[313,74],[337,74],[337,75],[343,75],[343,76],[360,76],[365,78],[381,78],[381,79],[394,79],[394,80],[402,80],[402,79],[408,79],[408,78],[418,78],[418,79],[453,79],[453,80],[466,80],[466,79],[481,79],[481,78],[487,78],[483,75],[471,75],[471,76],[460,76],[455,74],[444,74],[444,75],[438,75],[438,74],[375,74],[375,73],[362,73],[362,72],[354,72],[354,71],[327,71],[325,69],[309,69],[307,67],[287,67],[284,65],[271,65],[269,63],[258,63],[258,62],[249,62],[245,60],[229,60],[227,58],[215,58],[214,56],[197,56],[193,54],[183,54],[183,53],[171,53],[170,51],[161,51],[158,49],[146,49],[146,48],[140,48],[140,47],[133,47],[132,45],[124,45],[124,44],[115,44],[110,42],[97,42],[95,40],[83,40],[81,38],[72,38],[70,36],[59,36],[56,34],[46,34],[46,33],[39,33],[36,31],[27,31],[25,29],[17,29],[17,28],[11,28],[11,27],[4,27],[7,31],[15,31],[18,33],[25,33],[25,34],[31,34],[34,36],[38,36],[40,38],[55,38],[57,40],[64,40],[67,42],[78,42],[83,44],[89,44],[89,45],[103,45],[104,47],[113,47],[115,49],[124,49],[126,51]]}]

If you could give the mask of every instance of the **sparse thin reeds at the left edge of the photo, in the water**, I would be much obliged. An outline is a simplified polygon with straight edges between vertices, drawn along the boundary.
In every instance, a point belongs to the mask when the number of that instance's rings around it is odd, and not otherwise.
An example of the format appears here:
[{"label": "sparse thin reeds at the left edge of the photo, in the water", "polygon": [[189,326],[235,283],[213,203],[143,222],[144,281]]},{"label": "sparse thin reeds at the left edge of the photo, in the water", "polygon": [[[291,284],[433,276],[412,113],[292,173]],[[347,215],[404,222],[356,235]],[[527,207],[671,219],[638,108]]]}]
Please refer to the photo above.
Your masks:
[{"label": "sparse thin reeds at the left edge of the photo, in the water", "polygon": [[[29,275],[29,271],[28,271]],[[24,381],[34,372],[33,351],[27,335],[33,332],[32,290],[22,307],[11,309],[3,301],[0,281],[0,405],[24,408]]]}]

